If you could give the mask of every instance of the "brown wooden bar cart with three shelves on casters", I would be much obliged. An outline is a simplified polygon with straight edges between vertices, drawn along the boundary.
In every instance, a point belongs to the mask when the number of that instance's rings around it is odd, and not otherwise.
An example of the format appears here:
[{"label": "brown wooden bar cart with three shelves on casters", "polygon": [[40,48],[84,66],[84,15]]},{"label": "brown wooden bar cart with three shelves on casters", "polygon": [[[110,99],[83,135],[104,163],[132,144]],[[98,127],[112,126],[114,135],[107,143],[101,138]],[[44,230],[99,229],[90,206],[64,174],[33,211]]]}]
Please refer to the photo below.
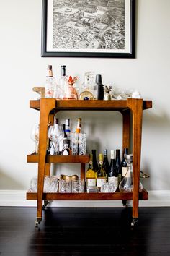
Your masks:
[{"label": "brown wooden bar cart with three shelves on casters", "polygon": [[[151,108],[152,101],[128,98],[120,101],[77,101],[55,100],[41,98],[30,101],[30,108],[40,111],[40,139],[39,154],[27,155],[28,163],[38,163],[37,193],[27,192],[27,200],[37,200],[37,219],[35,226],[42,220],[42,201],[48,200],[133,200],[133,221],[138,221],[138,200],[147,200],[148,192],[139,192],[140,181],[140,150],[142,135],[143,110]],[[81,179],[85,179],[85,164],[89,162],[89,155],[46,155],[48,124],[58,111],[120,111],[122,114],[122,148],[130,147],[130,113],[132,114],[133,136],[133,192],[115,193],[44,193],[45,175],[50,175],[50,163],[80,163]]]}]

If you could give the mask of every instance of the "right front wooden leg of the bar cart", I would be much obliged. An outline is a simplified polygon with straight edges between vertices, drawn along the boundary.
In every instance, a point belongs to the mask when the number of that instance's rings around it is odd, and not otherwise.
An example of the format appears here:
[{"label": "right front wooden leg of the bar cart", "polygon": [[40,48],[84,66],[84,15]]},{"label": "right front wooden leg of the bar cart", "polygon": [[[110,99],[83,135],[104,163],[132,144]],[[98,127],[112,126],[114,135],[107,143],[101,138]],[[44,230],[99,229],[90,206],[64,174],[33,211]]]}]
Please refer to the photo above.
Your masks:
[{"label": "right front wooden leg of the bar cart", "polygon": [[138,200],[140,182],[140,151],[142,137],[143,100],[128,99],[133,111],[133,226],[138,223]]}]

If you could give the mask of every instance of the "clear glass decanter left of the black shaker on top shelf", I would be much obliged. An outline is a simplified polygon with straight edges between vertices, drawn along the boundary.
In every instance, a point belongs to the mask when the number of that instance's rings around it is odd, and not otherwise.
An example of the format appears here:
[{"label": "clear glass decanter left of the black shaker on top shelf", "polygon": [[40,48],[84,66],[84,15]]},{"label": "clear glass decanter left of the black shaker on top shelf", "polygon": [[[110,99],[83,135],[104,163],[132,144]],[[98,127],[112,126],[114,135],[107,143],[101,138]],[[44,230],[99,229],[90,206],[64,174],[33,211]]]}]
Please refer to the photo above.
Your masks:
[{"label": "clear glass decanter left of the black shaker on top shelf", "polygon": [[[91,93],[90,95],[89,95],[89,92]],[[94,82],[94,72],[88,71],[84,74],[84,82],[81,85],[80,98],[81,98],[81,95],[83,95],[83,97],[87,95],[86,99],[89,99],[89,100],[91,98],[88,98],[88,95],[93,99],[97,99],[97,85]],[[85,99],[85,98],[81,98],[81,99]]]}]

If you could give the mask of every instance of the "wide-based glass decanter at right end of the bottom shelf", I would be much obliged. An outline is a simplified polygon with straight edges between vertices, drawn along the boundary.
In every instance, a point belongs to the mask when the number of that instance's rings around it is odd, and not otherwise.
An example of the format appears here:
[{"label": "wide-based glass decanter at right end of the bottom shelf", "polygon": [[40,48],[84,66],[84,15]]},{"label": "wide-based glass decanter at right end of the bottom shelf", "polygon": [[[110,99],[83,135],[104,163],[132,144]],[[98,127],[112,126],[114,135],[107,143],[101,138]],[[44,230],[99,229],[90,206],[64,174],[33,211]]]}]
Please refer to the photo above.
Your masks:
[{"label": "wide-based glass decanter at right end of the bottom shelf", "polygon": [[[120,192],[133,192],[133,154],[125,155],[128,171],[119,185]],[[139,192],[143,189],[143,184],[139,183]]]}]

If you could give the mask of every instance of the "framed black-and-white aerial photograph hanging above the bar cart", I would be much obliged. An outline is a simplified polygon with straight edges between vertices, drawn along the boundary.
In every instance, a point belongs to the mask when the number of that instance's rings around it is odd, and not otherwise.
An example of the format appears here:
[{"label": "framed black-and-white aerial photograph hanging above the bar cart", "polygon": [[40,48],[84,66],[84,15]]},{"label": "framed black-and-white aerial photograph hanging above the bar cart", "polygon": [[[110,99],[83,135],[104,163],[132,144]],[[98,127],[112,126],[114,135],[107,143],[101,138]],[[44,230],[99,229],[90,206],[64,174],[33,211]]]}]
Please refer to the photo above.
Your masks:
[{"label": "framed black-and-white aerial photograph hanging above the bar cart", "polygon": [[42,0],[41,56],[135,58],[135,0]]}]

